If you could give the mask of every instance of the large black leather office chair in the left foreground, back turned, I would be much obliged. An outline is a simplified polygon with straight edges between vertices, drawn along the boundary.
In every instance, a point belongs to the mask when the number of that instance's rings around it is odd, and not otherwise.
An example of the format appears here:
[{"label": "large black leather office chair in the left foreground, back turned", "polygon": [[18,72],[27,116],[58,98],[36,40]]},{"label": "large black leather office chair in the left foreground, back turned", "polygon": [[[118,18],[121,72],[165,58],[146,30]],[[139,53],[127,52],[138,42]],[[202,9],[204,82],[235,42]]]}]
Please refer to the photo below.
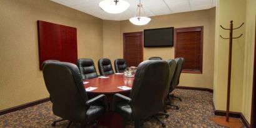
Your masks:
[{"label": "large black leather office chair in the left foreground, back turned", "polygon": [[44,82],[52,99],[52,111],[56,116],[85,127],[107,111],[107,97],[103,94],[90,100],[75,64],[52,62],[44,65]]}]

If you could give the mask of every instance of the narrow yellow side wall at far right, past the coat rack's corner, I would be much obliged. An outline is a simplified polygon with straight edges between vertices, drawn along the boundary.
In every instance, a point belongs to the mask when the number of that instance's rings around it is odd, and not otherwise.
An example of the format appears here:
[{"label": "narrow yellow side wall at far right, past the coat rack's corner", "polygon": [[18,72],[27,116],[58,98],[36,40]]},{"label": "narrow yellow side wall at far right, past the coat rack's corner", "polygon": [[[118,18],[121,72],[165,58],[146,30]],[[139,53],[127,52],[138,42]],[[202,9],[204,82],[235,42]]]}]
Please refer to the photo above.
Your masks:
[{"label": "narrow yellow side wall at far right, past the coat rack's corner", "polygon": [[246,21],[245,21],[245,61],[244,61],[244,84],[242,113],[247,121],[250,122],[252,109],[252,81],[254,74],[254,46],[255,46],[255,20],[256,20],[256,1],[247,0]]}]

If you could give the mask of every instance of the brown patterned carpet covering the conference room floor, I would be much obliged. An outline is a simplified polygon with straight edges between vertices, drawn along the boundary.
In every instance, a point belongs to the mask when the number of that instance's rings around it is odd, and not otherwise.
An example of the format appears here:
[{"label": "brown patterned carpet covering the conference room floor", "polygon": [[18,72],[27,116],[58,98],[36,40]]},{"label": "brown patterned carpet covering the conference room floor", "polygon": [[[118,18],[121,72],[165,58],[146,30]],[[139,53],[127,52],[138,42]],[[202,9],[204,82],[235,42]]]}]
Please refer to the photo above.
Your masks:
[{"label": "brown patterned carpet covering the conference room floor", "polygon": [[[180,109],[175,110],[173,107],[167,107],[170,115],[164,119],[166,127],[221,127],[209,120],[214,116],[212,106],[212,93],[206,91],[191,91],[185,89],[175,89],[175,96],[182,98],[182,102],[174,99]],[[22,109],[0,116],[0,127],[52,127],[52,121],[60,119],[52,114],[51,102],[45,102],[37,106]],[[66,127],[68,121],[62,121],[56,124],[56,128]],[[134,127],[133,122],[126,122],[126,128]],[[79,127],[79,124],[72,124],[72,127]],[[92,126],[91,126],[92,127]],[[102,126],[98,126],[102,127]],[[144,122],[144,127],[155,128],[162,127],[154,119]]]}]

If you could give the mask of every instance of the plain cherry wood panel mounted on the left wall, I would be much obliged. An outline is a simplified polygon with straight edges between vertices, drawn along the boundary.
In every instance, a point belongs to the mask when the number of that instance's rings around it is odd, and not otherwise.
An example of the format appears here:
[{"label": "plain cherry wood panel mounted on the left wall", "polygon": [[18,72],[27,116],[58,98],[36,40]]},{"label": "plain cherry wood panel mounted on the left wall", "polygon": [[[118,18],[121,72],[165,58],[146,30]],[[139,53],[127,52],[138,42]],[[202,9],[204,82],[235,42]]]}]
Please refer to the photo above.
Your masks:
[{"label": "plain cherry wood panel mounted on the left wall", "polygon": [[77,61],[77,33],[75,27],[37,21],[39,68],[48,59]]}]

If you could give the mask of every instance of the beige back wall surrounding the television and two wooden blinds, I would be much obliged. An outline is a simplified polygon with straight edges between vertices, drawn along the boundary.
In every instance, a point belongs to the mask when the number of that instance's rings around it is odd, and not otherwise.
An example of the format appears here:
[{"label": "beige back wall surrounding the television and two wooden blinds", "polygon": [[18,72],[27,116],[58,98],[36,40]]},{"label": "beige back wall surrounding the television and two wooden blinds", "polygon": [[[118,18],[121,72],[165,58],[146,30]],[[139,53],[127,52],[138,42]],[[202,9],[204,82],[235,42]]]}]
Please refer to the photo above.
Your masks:
[{"label": "beige back wall surrounding the television and two wooden blinds", "polygon": [[[120,23],[119,44],[113,47],[121,49],[119,51],[111,51],[112,54],[123,54],[123,37],[124,32],[143,31],[144,29],[152,29],[159,27],[193,27],[204,26],[204,50],[203,50],[203,74],[182,73],[180,77],[181,86],[206,87],[213,88],[214,79],[214,34],[215,34],[215,8],[202,11],[182,12],[177,14],[168,14],[163,16],[151,17],[152,20],[145,26],[135,26],[128,20]],[[105,54],[105,52],[104,52]],[[151,56],[160,56],[163,59],[174,58],[174,47],[147,47],[144,48],[144,60]],[[122,56],[121,56],[122,57]]]}]

